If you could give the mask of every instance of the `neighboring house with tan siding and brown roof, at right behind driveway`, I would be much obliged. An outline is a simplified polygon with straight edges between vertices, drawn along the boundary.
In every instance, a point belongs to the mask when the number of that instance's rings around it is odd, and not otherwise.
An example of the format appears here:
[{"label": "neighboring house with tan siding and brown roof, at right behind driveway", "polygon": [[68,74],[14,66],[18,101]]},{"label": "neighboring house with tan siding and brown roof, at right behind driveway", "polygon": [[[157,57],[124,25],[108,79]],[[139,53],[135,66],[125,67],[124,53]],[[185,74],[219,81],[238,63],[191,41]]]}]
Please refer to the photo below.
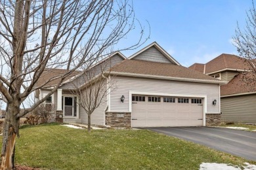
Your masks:
[{"label": "neighboring house with tan siding and brown roof, at right behind driveway", "polygon": [[244,58],[221,54],[208,63],[194,63],[189,68],[227,82],[221,86],[223,122],[256,123],[255,74],[249,71]]}]

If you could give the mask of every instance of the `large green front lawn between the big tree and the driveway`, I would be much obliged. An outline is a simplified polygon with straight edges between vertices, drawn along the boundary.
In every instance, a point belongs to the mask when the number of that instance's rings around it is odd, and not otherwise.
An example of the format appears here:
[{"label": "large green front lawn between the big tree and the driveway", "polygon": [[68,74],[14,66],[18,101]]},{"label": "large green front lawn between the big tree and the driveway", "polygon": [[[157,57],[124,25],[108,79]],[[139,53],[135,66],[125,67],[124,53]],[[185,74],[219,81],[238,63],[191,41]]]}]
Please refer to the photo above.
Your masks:
[{"label": "large green front lawn between the big tree and the driveway", "polygon": [[[246,160],[148,130],[23,126],[16,163],[42,169],[198,169],[202,162]],[[251,162],[254,163],[255,162]]]}]

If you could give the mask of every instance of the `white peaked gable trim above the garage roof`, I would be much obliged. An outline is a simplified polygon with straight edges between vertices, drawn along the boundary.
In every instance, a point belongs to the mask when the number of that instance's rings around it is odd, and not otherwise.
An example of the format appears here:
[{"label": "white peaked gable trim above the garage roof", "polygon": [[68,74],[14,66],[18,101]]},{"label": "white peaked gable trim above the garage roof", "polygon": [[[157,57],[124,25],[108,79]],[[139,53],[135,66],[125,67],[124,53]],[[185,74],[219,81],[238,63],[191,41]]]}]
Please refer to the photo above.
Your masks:
[{"label": "white peaked gable trim above the garage roof", "polygon": [[165,56],[165,58],[169,59],[169,61],[171,61],[171,63],[177,64],[177,65],[181,65],[178,61],[176,61],[176,59],[174,59],[170,54],[168,54],[163,48],[161,48],[161,46],[157,43],[157,42],[152,42],[151,44],[149,44],[148,46],[146,46],[145,48],[142,48],[141,50],[139,50],[139,52],[136,52],[135,54],[133,54],[131,57],[129,57],[128,59],[133,59],[136,56],[138,56],[139,54],[141,54],[142,52],[148,50],[149,48],[151,48],[152,46],[154,46],[156,49],[159,50],[159,52],[161,52],[161,54],[163,54],[163,56]]}]

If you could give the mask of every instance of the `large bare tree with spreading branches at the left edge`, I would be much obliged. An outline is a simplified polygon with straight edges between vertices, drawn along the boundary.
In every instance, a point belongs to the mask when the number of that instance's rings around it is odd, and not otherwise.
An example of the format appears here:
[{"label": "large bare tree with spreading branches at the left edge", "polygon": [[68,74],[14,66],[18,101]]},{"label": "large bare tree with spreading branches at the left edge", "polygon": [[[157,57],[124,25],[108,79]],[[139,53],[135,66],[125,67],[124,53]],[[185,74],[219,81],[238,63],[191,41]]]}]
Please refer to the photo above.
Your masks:
[{"label": "large bare tree with spreading branches at the left edge", "polygon": [[[13,169],[19,120],[53,94],[65,78],[87,61],[108,55],[108,49],[135,29],[132,3],[127,0],[0,0],[0,93],[7,103],[1,169]],[[139,23],[139,22],[137,22]],[[144,28],[133,46],[141,44]],[[66,72],[35,86],[45,68]],[[30,109],[22,103],[39,88],[49,92]]]}]

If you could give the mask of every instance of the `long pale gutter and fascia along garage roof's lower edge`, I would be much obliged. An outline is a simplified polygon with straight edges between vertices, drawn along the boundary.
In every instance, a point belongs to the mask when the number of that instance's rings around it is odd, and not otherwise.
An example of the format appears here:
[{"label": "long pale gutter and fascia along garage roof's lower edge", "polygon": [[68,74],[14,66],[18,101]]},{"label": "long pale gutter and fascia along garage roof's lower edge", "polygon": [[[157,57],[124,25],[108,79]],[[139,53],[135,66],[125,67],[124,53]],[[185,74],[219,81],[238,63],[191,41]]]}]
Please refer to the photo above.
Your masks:
[{"label": "long pale gutter and fascia along garage roof's lower edge", "polygon": [[143,75],[143,74],[135,74],[135,73],[121,73],[121,72],[110,72],[111,75],[119,75],[119,76],[137,76],[144,78],[156,78],[163,80],[180,80],[185,82],[205,82],[212,84],[227,84],[227,82],[219,81],[219,80],[202,80],[202,79],[194,79],[194,78],[180,78],[180,77],[171,77],[171,76],[156,76],[156,75]]}]

